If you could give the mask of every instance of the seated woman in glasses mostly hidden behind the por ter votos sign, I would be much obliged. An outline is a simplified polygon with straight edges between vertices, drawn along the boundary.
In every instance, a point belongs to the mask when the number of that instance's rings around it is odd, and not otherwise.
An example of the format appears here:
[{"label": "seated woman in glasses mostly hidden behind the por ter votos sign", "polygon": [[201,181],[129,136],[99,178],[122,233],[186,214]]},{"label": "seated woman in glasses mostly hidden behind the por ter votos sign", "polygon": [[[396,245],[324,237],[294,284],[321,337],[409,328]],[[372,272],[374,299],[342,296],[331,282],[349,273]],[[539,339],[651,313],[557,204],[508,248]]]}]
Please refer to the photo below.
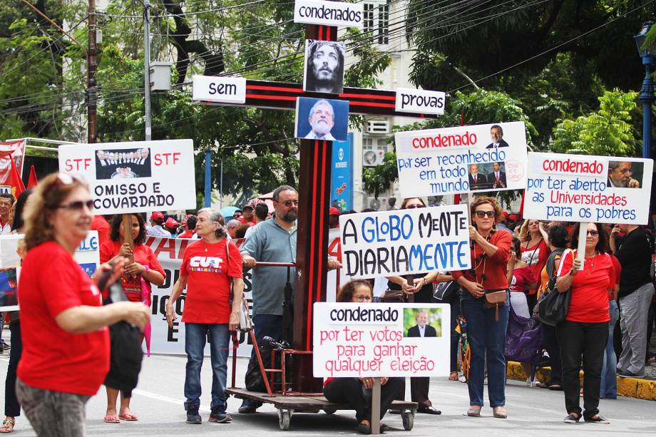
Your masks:
[{"label": "seated woman in glasses mostly hidden behind the por ter votos sign", "polygon": [[[354,280],[344,284],[337,302],[371,303],[374,291],[371,284],[364,280]],[[387,409],[399,392],[404,389],[403,378],[381,378],[380,417],[383,418]],[[371,387],[374,378],[328,378],[324,383],[324,396],[329,402],[348,403],[355,409],[358,421],[358,432],[371,434]],[[381,423],[381,431],[387,427]]]}]

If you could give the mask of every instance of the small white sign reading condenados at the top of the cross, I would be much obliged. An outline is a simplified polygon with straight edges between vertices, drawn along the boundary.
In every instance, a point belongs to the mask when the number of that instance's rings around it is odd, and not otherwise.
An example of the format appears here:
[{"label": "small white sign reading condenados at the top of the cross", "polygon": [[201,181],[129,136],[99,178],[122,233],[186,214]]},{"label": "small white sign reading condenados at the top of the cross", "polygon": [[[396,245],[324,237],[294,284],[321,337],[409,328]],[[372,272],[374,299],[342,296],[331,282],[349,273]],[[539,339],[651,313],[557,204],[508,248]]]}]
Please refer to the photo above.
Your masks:
[{"label": "small white sign reading condenados at the top of the cross", "polygon": [[296,0],[294,2],[294,23],[362,29],[364,26],[364,6],[362,3]]}]

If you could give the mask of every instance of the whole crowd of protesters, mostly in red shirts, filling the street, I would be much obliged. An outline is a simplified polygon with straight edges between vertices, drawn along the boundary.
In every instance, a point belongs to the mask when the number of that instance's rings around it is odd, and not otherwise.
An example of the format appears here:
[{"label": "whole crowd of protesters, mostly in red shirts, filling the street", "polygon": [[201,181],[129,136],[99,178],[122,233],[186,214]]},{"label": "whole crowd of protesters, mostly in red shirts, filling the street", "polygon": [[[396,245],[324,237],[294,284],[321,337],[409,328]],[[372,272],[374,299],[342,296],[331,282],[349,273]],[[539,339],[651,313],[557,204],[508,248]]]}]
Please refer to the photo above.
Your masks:
[{"label": "whole crowd of protesters, mostly in red shirts, filling the street", "polygon": [[[425,206],[424,200],[414,197],[405,199],[401,209]],[[165,280],[160,263],[145,245],[148,236],[196,240],[183,256],[180,278],[166,304],[166,319],[173,324],[173,303],[186,289],[182,321],[188,357],[187,423],[203,421],[200,368],[207,338],[212,366],[209,420],[230,422],[225,397],[227,350],[230,331],[240,323],[245,269],[253,269],[252,315],[257,341],[261,343],[266,336],[287,339],[287,327],[283,326],[287,271],[258,263],[296,262],[297,214],[302,207],[297,190],[288,185],[278,187],[272,195],[271,212],[265,202],[248,202],[232,217],[205,208],[180,222],[158,211],[149,217],[94,217],[91,207],[86,183],[65,173],[49,175],[15,203],[13,197],[0,195],[2,233],[25,235],[21,312],[6,315],[12,347],[6,418],[0,433],[14,430],[22,406],[39,435],[83,436],[84,405],[101,384],[106,385],[108,399],[106,422],[138,420],[138,414],[130,410],[130,389],[123,388],[124,369],[116,369],[115,342],[125,339],[123,331],[114,327],[129,322],[144,333],[136,344],[144,336],[148,343],[151,287]],[[10,212],[14,214],[12,224]],[[339,227],[339,215],[354,212],[331,207],[329,226]],[[471,347],[467,364],[459,362],[457,346],[451,348],[450,357],[449,379],[468,383],[467,416],[481,415],[485,381],[493,416],[511,414],[506,410],[506,366],[508,359],[519,359],[527,384],[564,391],[565,422],[583,418],[608,423],[600,415],[598,403],[600,398],[617,397],[616,376],[643,377],[645,366],[654,361],[648,349],[656,306],[652,232],[622,223],[589,223],[582,264],[577,254],[578,224],[521,220],[517,214],[503,212],[494,197],[476,197],[470,212],[470,270],[432,272],[411,280],[389,277],[388,291],[375,297],[372,281],[353,281],[343,284],[338,301],[451,304],[451,329],[458,325],[456,316],[463,316]],[[72,257],[90,229],[98,230],[103,262],[91,278]],[[245,242],[237,248],[231,240],[240,238]],[[340,267],[335,259],[328,259],[328,265]],[[291,274],[294,277],[293,267]],[[114,282],[121,284],[125,302],[113,296],[109,286]],[[437,299],[434,292],[441,282],[451,282],[456,291]],[[570,293],[565,320],[555,327],[540,322],[538,314],[545,297],[565,292]],[[55,294],[57,299],[48,299]],[[431,335],[420,316],[417,326],[413,335]],[[533,336],[538,330],[540,335]],[[458,338],[455,330],[451,338]],[[579,383],[582,364],[583,389]],[[61,366],[70,371],[57,371]],[[538,366],[550,366],[545,383],[535,381]],[[365,394],[372,381],[338,378],[327,380],[324,386],[327,399],[352,404],[361,433],[371,433]],[[405,384],[403,379],[391,377],[380,382],[384,416],[394,399],[404,399]],[[439,414],[428,394],[428,378],[411,379],[411,398],[419,403],[419,413]],[[260,405],[246,399],[239,413],[255,413]]]}]

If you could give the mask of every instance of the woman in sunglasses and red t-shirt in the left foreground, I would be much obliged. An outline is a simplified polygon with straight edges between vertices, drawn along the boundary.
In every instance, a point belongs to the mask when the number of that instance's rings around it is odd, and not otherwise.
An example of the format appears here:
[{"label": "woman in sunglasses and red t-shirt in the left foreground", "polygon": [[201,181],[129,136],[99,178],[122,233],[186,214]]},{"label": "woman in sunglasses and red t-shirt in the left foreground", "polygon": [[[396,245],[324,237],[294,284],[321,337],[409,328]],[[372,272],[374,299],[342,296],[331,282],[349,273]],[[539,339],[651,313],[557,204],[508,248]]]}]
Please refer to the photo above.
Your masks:
[{"label": "woman in sunglasses and red t-shirt in the left foreground", "polygon": [[141,303],[102,304],[98,282],[120,277],[124,259],[93,278],[73,259],[92,208],[86,182],[66,173],[43,178],[26,207],[16,395],[39,436],[84,436],[84,406],[109,370],[107,326],[123,320],[143,329],[150,320]]}]

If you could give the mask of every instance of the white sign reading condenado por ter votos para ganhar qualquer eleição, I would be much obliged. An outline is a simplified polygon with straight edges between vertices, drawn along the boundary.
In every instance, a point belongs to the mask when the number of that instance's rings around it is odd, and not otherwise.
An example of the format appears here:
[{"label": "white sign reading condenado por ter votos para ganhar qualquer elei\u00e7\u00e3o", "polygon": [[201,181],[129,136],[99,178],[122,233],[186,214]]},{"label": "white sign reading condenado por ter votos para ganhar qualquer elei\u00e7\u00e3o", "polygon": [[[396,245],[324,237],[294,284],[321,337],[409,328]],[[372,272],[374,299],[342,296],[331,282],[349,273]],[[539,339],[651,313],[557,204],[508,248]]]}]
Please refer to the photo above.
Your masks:
[{"label": "white sign reading condenado por ter votos para ganhar qualquer elei\u00e7\u00e3o", "polygon": [[446,376],[450,309],[448,304],[317,302],[314,376]]}]

